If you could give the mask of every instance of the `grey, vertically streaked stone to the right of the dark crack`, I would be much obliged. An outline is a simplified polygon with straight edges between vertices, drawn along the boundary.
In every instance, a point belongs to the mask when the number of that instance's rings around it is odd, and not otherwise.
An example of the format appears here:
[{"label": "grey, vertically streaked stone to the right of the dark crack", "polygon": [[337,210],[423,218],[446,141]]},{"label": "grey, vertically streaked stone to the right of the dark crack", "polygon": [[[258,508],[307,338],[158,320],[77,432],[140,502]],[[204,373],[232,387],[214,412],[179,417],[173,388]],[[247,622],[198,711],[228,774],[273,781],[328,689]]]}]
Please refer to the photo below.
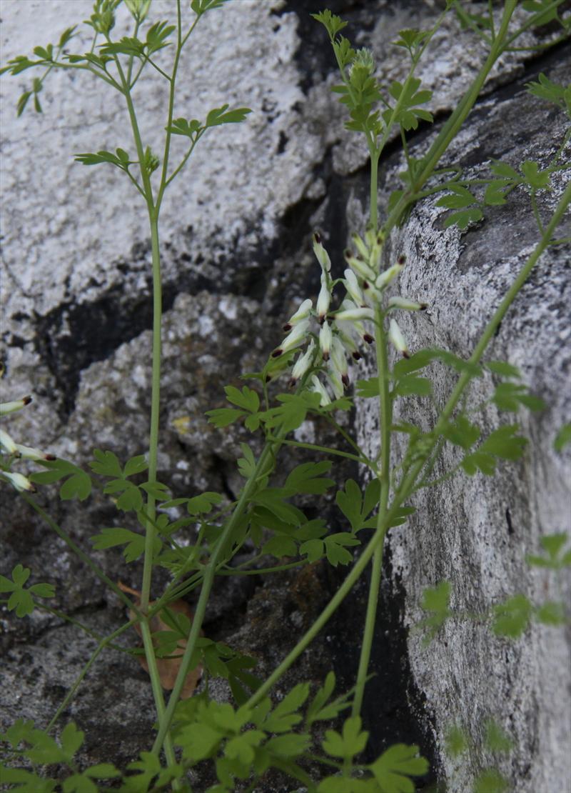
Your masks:
[{"label": "grey, vertically streaked stone to the right of the dark crack", "polygon": [[[556,82],[569,74],[569,58],[553,58],[542,71]],[[502,159],[514,167],[525,159],[546,163],[565,132],[565,117],[536,102],[514,82],[509,90],[485,100],[472,117],[443,165],[459,163],[467,175],[478,175],[478,163]],[[428,140],[413,150],[421,155]],[[568,149],[569,151],[569,149]],[[542,199],[539,211],[549,218],[567,177],[555,180],[554,192]],[[436,197],[422,201],[409,221],[395,233],[393,255],[402,252],[407,266],[398,290],[428,303],[425,315],[403,316],[403,331],[411,349],[444,347],[466,358],[508,286],[534,250],[539,232],[527,196],[521,191],[508,204],[489,209],[477,228],[464,234],[443,229],[446,210]],[[568,236],[569,216],[558,236]],[[517,592],[535,603],[569,600],[569,577],[532,572],[525,554],[536,553],[542,534],[569,530],[571,511],[569,451],[558,454],[554,437],[569,420],[569,247],[552,248],[539,261],[527,284],[490,344],[486,360],[519,366],[531,392],[548,408],[523,412],[518,421],[531,439],[517,464],[499,466],[496,477],[458,474],[442,485],[413,497],[417,515],[405,527],[390,531],[395,581],[406,592],[405,623],[421,619],[424,588],[440,580],[453,585],[452,607],[459,612],[485,613]],[[455,382],[451,370],[432,366],[435,397],[443,404]],[[491,377],[474,382],[469,404],[482,404],[493,390]],[[398,403],[395,418],[428,429],[434,412],[428,400]],[[488,405],[481,416],[483,434],[500,423],[513,423],[512,414],[499,414]],[[378,418],[366,405],[357,411],[364,442],[374,451]],[[400,449],[402,451],[402,447]],[[438,477],[459,462],[458,451],[445,447],[436,467]],[[486,718],[512,734],[516,748],[501,770],[517,791],[547,791],[571,779],[569,753],[569,635],[565,630],[534,626],[518,642],[494,637],[489,623],[468,619],[449,624],[423,649],[421,636],[411,634],[409,657],[418,688],[426,696],[440,747],[443,776],[452,791],[466,791],[475,774],[491,760],[482,749]],[[456,723],[474,741],[466,764],[443,753],[443,736]]]}]

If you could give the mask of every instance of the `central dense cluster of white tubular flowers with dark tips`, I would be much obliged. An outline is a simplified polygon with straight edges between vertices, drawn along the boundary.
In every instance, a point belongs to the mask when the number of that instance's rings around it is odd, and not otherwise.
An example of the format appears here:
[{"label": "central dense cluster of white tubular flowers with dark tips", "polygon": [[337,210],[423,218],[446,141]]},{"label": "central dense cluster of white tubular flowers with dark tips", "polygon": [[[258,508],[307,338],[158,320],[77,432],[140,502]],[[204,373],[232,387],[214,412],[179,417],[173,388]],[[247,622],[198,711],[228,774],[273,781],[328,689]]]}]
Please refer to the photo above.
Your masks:
[{"label": "central dense cluster of white tubular flowers with dark tips", "polygon": [[[310,376],[311,389],[321,397],[321,405],[331,404],[333,399],[341,399],[349,385],[348,360],[358,361],[362,355],[360,344],[375,341],[371,323],[384,322],[386,314],[396,309],[420,311],[426,308],[404,297],[390,297],[383,293],[390,282],[401,272],[405,259],[379,273],[383,236],[367,232],[364,239],[354,234],[352,243],[355,252],[345,251],[348,268],[344,278],[333,280],[331,259],[323,247],[322,239],[314,234],[314,254],[322,268],[321,289],[317,303],[309,298],[304,300],[297,311],[287,320],[284,331],[287,336],[272,352],[272,360],[284,354],[299,350],[299,356],[291,368],[290,385],[295,385],[302,377]],[[345,297],[336,311],[330,312],[333,289],[341,284]],[[317,323],[318,330],[312,330]],[[390,319],[388,336],[394,347],[405,357],[409,351],[396,320]],[[305,347],[306,345],[306,347]],[[305,347],[305,350],[303,349]],[[322,375],[322,380],[318,374]]]}]

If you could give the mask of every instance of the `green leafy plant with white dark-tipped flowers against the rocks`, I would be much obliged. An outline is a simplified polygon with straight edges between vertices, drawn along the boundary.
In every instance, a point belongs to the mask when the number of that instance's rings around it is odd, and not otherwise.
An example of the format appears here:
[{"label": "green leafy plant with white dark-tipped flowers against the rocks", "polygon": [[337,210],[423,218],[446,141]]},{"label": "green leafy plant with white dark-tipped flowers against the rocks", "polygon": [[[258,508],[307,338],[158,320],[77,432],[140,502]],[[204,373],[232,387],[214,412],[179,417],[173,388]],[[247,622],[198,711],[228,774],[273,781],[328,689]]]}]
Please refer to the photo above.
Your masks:
[{"label": "green leafy plant with white dark-tipped flowers against the rocks", "polygon": [[[99,643],[47,729],[40,730],[32,722],[20,719],[2,736],[11,753],[9,764],[2,766],[2,781],[21,790],[55,789],[57,780],[41,771],[46,764],[60,764],[68,769],[63,790],[70,793],[97,791],[97,780],[118,780],[120,777],[120,789],[124,791],[142,793],[168,787],[190,790],[186,777],[188,769],[203,760],[213,760],[218,781],[208,788],[211,793],[223,793],[239,786],[253,790],[270,767],[286,772],[309,791],[318,793],[413,791],[413,777],[422,776],[428,770],[428,763],[419,757],[417,746],[397,744],[388,747],[371,763],[356,760],[367,744],[367,731],[362,730],[360,712],[368,679],[386,534],[390,527],[405,523],[415,511],[409,501],[419,489],[436,486],[461,470],[468,475],[478,471],[491,475],[498,460],[512,460],[523,454],[526,439],[518,434],[516,424],[500,427],[481,441],[481,429],[473,413],[466,409],[470,385],[482,376],[484,370],[500,380],[490,397],[498,407],[508,411],[516,411],[522,406],[532,410],[542,408],[541,401],[520,382],[519,371],[508,362],[485,361],[485,351],[542,253],[547,247],[569,243],[569,239],[557,239],[556,230],[571,201],[571,186],[562,190],[558,204],[548,218],[542,216],[537,201],[538,193],[546,190],[554,176],[568,167],[562,160],[569,132],[550,163],[543,168],[531,161],[522,163],[519,170],[508,163],[494,162],[491,176],[469,180],[463,178],[459,169],[452,172],[450,169],[439,170],[439,163],[474,106],[494,64],[504,52],[516,47],[522,33],[533,25],[558,21],[561,36],[569,36],[569,20],[565,21],[558,14],[562,0],[523,3],[528,15],[522,25],[514,22],[515,0],[504,2],[499,19],[494,16],[492,3],[488,5],[487,14],[476,15],[468,13],[460,3],[448,0],[446,9],[432,29],[400,32],[394,44],[406,53],[409,71],[404,82],[394,81],[390,86],[383,86],[375,79],[372,53],[366,49],[355,51],[341,35],[346,23],[325,10],[314,17],[325,26],[341,73],[341,83],[333,90],[348,109],[346,126],[364,136],[370,157],[367,229],[362,235],[355,233],[352,236],[352,247],[344,254],[347,267],[343,278],[333,277],[331,259],[323,239],[318,234],[314,236],[314,254],[321,268],[321,289],[315,306],[308,298],[290,317],[284,327],[287,335],[282,343],[270,354],[261,372],[250,375],[257,387],[244,385],[238,389],[227,386],[226,398],[232,407],[219,408],[208,414],[216,427],[243,421],[249,431],[259,433],[263,438],[264,446],[258,455],[249,445],[242,444],[243,456],[238,460],[238,470],[245,482],[238,499],[227,503],[215,492],[173,499],[167,485],[158,481],[162,327],[158,219],[162,201],[169,184],[185,168],[207,130],[243,121],[249,113],[247,108],[229,109],[228,105],[223,105],[207,113],[205,121],[174,117],[181,51],[204,13],[219,9],[223,2],[226,0],[192,0],[192,20],[188,21],[188,8],[183,9],[181,0],[177,0],[176,24],[158,21],[147,27],[143,38],[150,0],[124,0],[133,17],[133,33],[113,40],[112,29],[120,0],[95,0],[93,15],[87,22],[93,29],[89,52],[67,53],[67,45],[74,37],[74,28],[70,28],[63,33],[57,46],[35,48],[36,60],[20,56],[2,70],[13,75],[34,67],[44,70],[44,75],[33,81],[32,89],[22,94],[18,102],[19,114],[31,98],[36,110],[41,110],[39,94],[45,77],[54,69],[87,71],[124,98],[135,144],[135,159],[120,147],[114,152],[78,154],[76,159],[85,165],[111,164],[129,178],[147,206],[153,264],[152,397],[147,454],[122,464],[112,451],[94,450],[88,473],[72,462],[50,459],[40,450],[17,444],[6,431],[0,435],[2,481],[22,493],[30,507],[46,520],[97,577],[112,588],[131,612],[131,619],[106,637],[93,634],[89,627],[78,623],[80,628],[95,635]],[[430,100],[431,92],[421,88],[421,81],[416,76],[417,66],[428,51],[444,15],[453,10],[464,26],[474,30],[485,41],[489,55],[436,139],[421,159],[414,159],[409,154],[407,133],[416,129],[420,122],[432,121],[431,114],[421,107]],[[168,45],[173,45],[174,55],[170,71],[164,71],[154,59],[154,54]],[[161,159],[141,136],[132,95],[133,87],[147,67],[162,75],[169,94]],[[569,87],[559,86],[546,75],[541,75],[539,82],[531,84],[530,91],[539,98],[554,102],[571,115]],[[392,193],[388,213],[379,219],[379,163],[395,132],[401,136],[406,163],[402,174],[404,188]],[[171,164],[173,136],[188,139],[187,151],[175,166]],[[478,197],[482,186],[484,193]],[[417,201],[432,193],[445,193],[439,205],[453,210],[445,224],[456,224],[463,229],[482,220],[487,206],[505,203],[509,193],[518,188],[529,193],[539,241],[485,326],[470,358],[465,360],[437,348],[411,354],[395,316],[402,311],[422,311],[425,306],[414,296],[389,295],[390,285],[398,281],[398,275],[406,266],[402,257],[388,260],[387,241],[391,232],[402,224]],[[363,345],[375,349],[377,374],[368,380],[358,381],[356,393],[360,397],[377,400],[379,404],[380,451],[376,458],[370,458],[335,418],[337,411],[348,410],[353,404],[346,393],[350,385],[350,366],[359,360]],[[394,364],[390,362],[391,346],[402,355]],[[412,423],[395,426],[393,408],[396,400],[432,396],[431,381],[419,373],[435,361],[455,370],[458,380],[443,408],[440,411],[435,408],[432,430],[423,432]],[[274,394],[273,385],[281,377],[287,378],[290,390]],[[19,410],[28,402],[29,397],[25,397],[6,403],[2,412]],[[339,433],[340,445],[344,448],[328,448],[293,439],[291,434],[306,416],[322,416]],[[409,443],[402,459],[392,465],[394,432],[404,432]],[[561,430],[558,445],[562,446],[568,440],[569,427],[566,427]],[[454,469],[434,479],[432,472],[446,443],[458,447],[460,459]],[[288,446],[314,450],[324,459],[298,465],[288,473],[285,481],[275,484],[279,481],[276,477],[278,455],[283,455]],[[347,528],[332,534],[325,521],[307,519],[291,500],[300,493],[319,496],[331,488],[334,482],[325,475],[331,469],[329,458],[335,456],[360,464],[367,472],[369,482],[363,489],[349,479],[337,491],[336,503]],[[20,458],[39,462],[45,470],[26,477],[13,470]],[[147,478],[141,482],[143,473]],[[95,479],[94,475],[99,478]],[[109,580],[89,555],[28,495],[36,485],[56,481],[63,481],[59,488],[63,500],[86,500],[93,486],[101,488],[112,496],[118,510],[134,517],[143,528],[143,534],[134,528],[105,528],[92,538],[93,546],[99,550],[124,546],[128,562],[143,557],[143,580],[140,592],[135,593],[135,603],[125,588]],[[178,515],[182,516],[172,519],[173,510],[178,510]],[[135,520],[131,525],[136,525]],[[180,542],[181,537],[188,538],[189,526],[196,528],[196,541],[190,546]],[[364,534],[360,534],[364,530],[371,534],[366,544],[362,540]],[[557,568],[558,571],[569,564],[569,553],[565,554],[563,550],[565,538],[561,538],[562,535],[556,537],[544,538],[543,548],[547,557],[530,557],[531,564]],[[248,543],[257,551],[245,564],[236,565],[234,557]],[[353,557],[359,546],[360,554]],[[276,563],[261,567],[268,557],[274,557]],[[284,557],[291,561],[284,561]],[[352,567],[322,614],[267,680],[258,680],[249,671],[253,659],[201,635],[207,603],[217,576],[267,574],[322,559],[334,566]],[[151,601],[152,573],[156,565],[169,569],[172,580],[158,600]],[[369,565],[371,581],[367,614],[360,664],[352,691],[334,698],[335,679],[330,672],[313,695],[310,695],[310,684],[302,683],[274,705],[269,698],[272,687],[322,630]],[[17,615],[29,614],[34,607],[39,607],[63,619],[70,619],[43,602],[53,594],[48,584],[32,584],[26,588],[29,575],[29,569],[17,565],[11,579],[0,578],[0,591],[10,592],[8,607]],[[184,603],[181,599],[195,589],[200,590],[200,595],[191,617],[180,604]],[[424,627],[430,635],[436,634],[451,616],[448,604],[449,588],[445,582],[425,593],[422,605],[428,616]],[[522,617],[523,612],[525,615]],[[512,599],[497,607],[493,629],[501,635],[516,636],[531,616],[546,623],[562,623],[569,619],[561,603],[546,603],[538,607],[529,604],[526,607],[522,600],[515,602]],[[139,760],[131,763],[123,776],[109,763],[82,769],[74,759],[82,745],[82,732],[70,723],[56,740],[51,730],[102,650],[106,647],[124,650],[115,644],[115,640],[133,623],[143,638],[144,663],[154,695],[158,726],[154,745],[150,752],[142,752]],[[168,702],[163,694],[163,688],[167,688],[161,672],[164,667],[160,666],[164,660],[174,662],[174,666],[169,667],[174,673],[168,686],[172,688]],[[198,665],[204,666],[207,676],[223,676],[229,681],[235,707],[211,699],[207,688],[192,698],[181,699],[182,694],[188,694],[188,675]],[[337,718],[348,709],[351,713],[345,718],[341,731],[327,730],[325,737],[318,742],[316,753],[311,734],[314,726]],[[456,748],[459,735],[455,734]],[[180,749],[178,756],[176,749]],[[32,769],[18,767],[18,757],[27,761]],[[314,780],[304,768],[307,760],[324,768],[320,780]],[[494,773],[493,769],[485,769],[482,778],[476,780],[476,789],[488,789],[484,787],[487,783],[485,775],[491,780]]]}]

